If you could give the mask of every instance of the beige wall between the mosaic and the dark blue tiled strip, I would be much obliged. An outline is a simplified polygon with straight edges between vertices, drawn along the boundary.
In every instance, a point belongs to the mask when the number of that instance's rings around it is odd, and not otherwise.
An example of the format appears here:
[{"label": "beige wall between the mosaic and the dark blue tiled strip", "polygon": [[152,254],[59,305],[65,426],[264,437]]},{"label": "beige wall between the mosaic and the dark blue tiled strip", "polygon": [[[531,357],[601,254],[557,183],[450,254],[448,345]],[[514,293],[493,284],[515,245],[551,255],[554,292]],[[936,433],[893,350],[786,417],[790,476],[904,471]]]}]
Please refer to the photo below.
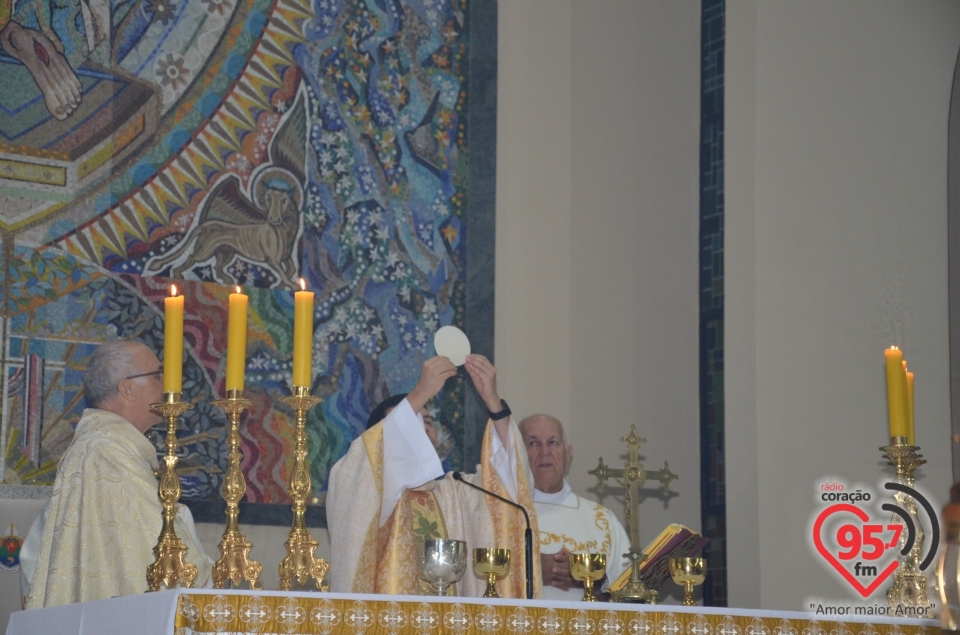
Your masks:
[{"label": "beige wall between the mosaic and the dark blue tiled strip", "polygon": [[[700,527],[700,3],[499,5],[496,363],[518,417],[556,415],[568,477],[619,465],[631,423],[645,466],[670,462],[641,540]],[[622,518],[622,497],[603,501]],[[653,491],[656,495],[657,492]]]}]

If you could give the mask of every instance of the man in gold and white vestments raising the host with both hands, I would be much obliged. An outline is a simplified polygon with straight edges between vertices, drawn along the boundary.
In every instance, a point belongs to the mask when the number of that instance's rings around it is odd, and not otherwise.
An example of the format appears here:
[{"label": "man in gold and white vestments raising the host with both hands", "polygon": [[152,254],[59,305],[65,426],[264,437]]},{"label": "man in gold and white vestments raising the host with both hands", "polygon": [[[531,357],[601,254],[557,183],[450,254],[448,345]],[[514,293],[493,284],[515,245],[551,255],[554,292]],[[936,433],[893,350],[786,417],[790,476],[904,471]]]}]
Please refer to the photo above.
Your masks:
[{"label": "man in gold and white vestments raising the host with both hands", "polygon": [[[496,369],[482,355],[464,364],[490,413],[477,474],[466,480],[533,507],[533,478],[523,440],[497,394]],[[510,549],[509,575],[497,582],[501,597],[526,597],[524,540],[520,510],[443,476],[440,458],[427,435],[421,413],[457,367],[446,357],[424,362],[417,385],[382,422],[350,444],[330,471],[327,526],[332,591],[420,594],[417,540],[451,538],[467,543],[468,558],[476,547]],[[439,479],[439,480],[437,480]],[[534,536],[536,516],[530,514]],[[540,560],[534,544],[534,593],[539,597]],[[478,597],[485,580],[472,562],[453,593]]]}]

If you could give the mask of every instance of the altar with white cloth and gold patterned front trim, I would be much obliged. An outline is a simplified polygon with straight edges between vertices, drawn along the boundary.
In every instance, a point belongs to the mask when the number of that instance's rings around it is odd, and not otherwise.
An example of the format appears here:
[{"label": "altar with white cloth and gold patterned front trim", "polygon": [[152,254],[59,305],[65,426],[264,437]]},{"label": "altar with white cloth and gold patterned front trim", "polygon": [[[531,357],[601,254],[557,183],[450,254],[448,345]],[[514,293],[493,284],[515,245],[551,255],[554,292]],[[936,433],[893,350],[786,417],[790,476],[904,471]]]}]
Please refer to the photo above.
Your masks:
[{"label": "altar with white cloth and gold patterned front trim", "polygon": [[174,589],[10,616],[7,635],[926,635],[933,620],[666,605]]}]

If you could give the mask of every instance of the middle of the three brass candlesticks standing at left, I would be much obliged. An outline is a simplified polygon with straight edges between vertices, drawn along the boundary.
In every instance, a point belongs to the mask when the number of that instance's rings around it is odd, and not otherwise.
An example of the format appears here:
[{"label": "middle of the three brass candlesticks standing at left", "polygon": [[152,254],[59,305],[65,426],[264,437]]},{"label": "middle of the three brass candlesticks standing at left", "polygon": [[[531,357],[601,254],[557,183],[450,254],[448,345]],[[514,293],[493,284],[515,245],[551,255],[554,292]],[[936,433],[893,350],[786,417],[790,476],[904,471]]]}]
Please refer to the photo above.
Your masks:
[{"label": "middle of the three brass candlesticks standing at left", "polygon": [[223,500],[227,503],[227,527],[220,541],[220,559],[213,565],[213,587],[222,589],[227,581],[234,586],[241,580],[250,583],[250,588],[259,590],[257,580],[263,572],[263,565],[250,559],[253,545],[240,533],[237,517],[240,515],[240,501],[247,493],[247,481],[240,470],[243,453],[240,452],[240,415],[251,407],[253,402],[243,398],[242,390],[228,390],[226,399],[219,399],[213,405],[227,413],[229,432],[227,444],[230,454],[227,457],[227,474],[223,479]]}]

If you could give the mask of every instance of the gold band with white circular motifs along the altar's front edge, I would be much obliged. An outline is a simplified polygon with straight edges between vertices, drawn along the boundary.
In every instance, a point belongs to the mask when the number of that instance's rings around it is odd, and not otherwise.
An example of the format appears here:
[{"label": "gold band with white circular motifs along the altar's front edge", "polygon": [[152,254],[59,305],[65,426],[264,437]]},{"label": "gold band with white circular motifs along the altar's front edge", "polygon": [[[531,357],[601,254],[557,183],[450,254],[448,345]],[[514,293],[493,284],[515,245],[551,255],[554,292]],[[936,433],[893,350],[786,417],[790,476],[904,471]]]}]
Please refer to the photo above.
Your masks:
[{"label": "gold band with white circular motifs along the altar's front edge", "polygon": [[809,613],[425,596],[179,591],[176,633],[934,635],[936,622]]}]

